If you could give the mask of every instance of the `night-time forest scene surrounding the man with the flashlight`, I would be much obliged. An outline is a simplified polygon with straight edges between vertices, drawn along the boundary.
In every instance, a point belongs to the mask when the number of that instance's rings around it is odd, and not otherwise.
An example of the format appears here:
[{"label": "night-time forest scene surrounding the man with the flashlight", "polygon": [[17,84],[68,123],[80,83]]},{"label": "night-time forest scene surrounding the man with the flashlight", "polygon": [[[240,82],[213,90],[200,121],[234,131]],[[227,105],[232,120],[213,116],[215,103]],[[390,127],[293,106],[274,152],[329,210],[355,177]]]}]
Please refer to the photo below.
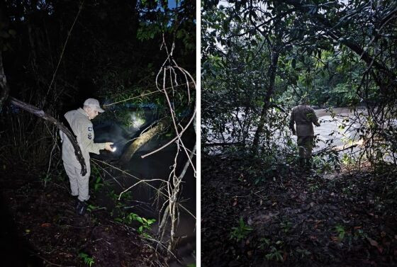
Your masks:
[{"label": "night-time forest scene surrounding the man with the flashlight", "polygon": [[[0,265],[195,266],[195,80],[196,1],[1,1]],[[59,131],[87,98],[117,152],[77,215]]]}]

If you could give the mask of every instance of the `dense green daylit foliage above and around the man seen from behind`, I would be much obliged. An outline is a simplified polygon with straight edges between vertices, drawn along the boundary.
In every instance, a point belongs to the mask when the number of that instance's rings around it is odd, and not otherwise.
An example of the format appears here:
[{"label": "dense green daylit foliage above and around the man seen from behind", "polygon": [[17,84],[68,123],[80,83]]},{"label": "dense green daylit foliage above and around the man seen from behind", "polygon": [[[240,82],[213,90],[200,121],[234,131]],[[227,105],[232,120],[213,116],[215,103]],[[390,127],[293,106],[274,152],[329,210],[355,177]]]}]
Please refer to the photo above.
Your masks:
[{"label": "dense green daylit foliage above and around the man seen from behind", "polygon": [[396,1],[203,1],[204,146],[276,142],[308,98],[368,108],[354,121],[363,152],[395,162],[396,22]]}]

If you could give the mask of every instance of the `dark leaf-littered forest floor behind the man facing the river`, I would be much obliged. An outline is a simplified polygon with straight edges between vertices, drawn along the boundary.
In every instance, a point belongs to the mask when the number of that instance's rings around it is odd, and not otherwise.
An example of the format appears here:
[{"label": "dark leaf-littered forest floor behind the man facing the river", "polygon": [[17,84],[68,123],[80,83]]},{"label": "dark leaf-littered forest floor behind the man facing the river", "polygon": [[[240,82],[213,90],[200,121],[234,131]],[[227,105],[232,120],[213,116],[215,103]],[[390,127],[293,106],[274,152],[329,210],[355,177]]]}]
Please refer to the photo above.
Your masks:
[{"label": "dark leaf-littered forest floor behind the man facing the river", "polygon": [[397,266],[390,171],[264,174],[261,161],[222,156],[201,166],[201,266]]}]

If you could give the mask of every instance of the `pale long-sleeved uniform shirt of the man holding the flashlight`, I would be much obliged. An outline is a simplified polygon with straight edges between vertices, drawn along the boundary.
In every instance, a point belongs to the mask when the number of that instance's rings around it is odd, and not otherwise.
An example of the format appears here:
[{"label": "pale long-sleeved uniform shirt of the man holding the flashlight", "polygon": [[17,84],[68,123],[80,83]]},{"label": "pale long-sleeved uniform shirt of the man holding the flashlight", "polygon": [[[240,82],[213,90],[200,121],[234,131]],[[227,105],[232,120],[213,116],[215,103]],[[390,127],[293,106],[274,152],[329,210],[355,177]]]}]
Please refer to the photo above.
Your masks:
[{"label": "pale long-sleeved uniform shirt of the man holding the flashlight", "polygon": [[[67,112],[65,118],[77,137],[77,143],[82,149],[86,166],[89,166],[89,153],[99,154],[99,150],[105,149],[105,143],[94,143],[94,130],[91,120],[89,120],[88,115],[82,108]],[[65,164],[81,169],[69,138],[62,131],[60,131],[60,137],[62,140],[62,161]]]}]

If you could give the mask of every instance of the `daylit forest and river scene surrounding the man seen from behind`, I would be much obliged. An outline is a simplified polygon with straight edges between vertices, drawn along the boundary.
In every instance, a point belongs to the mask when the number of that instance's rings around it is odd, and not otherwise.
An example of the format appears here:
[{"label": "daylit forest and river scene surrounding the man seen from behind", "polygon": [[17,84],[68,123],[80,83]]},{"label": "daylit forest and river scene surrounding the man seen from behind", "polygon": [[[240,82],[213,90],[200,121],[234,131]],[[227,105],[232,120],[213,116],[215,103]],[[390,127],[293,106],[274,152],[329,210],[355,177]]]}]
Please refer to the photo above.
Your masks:
[{"label": "daylit forest and river scene surrounding the man seen from behind", "polygon": [[202,266],[397,265],[396,26],[396,1],[203,1]]}]

